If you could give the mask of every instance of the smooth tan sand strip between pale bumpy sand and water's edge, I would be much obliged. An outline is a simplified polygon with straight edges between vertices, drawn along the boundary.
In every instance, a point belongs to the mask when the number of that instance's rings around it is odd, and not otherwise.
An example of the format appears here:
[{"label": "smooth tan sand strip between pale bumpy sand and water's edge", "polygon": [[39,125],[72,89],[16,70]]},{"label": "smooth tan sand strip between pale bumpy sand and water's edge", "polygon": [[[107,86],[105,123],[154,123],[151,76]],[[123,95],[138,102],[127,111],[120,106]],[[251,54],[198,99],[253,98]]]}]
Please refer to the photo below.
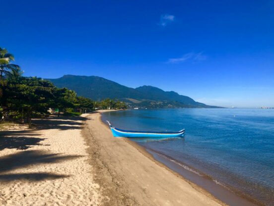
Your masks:
[{"label": "smooth tan sand strip between pale bumpy sand and water's edge", "polygon": [[92,113],[82,136],[103,205],[226,205],[156,161],[126,138],[113,138],[101,113]]}]

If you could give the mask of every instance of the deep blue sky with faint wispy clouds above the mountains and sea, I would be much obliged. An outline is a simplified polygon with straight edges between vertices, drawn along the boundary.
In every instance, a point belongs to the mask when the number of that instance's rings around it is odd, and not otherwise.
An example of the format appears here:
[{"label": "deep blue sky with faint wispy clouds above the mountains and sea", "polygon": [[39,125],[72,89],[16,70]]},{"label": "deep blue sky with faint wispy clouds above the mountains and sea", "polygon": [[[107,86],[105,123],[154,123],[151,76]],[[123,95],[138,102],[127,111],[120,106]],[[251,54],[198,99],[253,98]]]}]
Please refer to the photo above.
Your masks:
[{"label": "deep blue sky with faint wispy clouds above the mountains and sea", "polygon": [[101,76],[220,106],[274,107],[274,0],[0,0],[25,76]]}]

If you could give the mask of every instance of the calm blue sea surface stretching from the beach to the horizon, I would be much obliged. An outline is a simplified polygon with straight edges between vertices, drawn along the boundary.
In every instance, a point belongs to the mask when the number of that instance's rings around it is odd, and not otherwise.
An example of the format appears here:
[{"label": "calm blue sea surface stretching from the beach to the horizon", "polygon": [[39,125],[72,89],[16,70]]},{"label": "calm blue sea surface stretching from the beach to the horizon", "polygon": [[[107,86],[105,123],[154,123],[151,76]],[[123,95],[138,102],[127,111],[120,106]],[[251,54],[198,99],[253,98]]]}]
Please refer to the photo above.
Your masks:
[{"label": "calm blue sea surface stretching from the beach to the horizon", "polygon": [[133,109],[102,118],[130,130],[185,128],[184,138],[132,140],[235,194],[274,204],[274,109]]}]

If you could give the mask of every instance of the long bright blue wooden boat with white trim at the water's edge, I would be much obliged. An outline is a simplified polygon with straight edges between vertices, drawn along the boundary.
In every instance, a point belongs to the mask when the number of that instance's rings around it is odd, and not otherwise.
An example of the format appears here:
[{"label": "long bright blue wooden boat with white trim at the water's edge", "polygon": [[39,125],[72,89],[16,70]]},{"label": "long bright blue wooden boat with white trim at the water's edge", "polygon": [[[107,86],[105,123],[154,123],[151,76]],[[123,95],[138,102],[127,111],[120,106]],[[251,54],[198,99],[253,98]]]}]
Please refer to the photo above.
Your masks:
[{"label": "long bright blue wooden boat with white trim at the water's edge", "polygon": [[118,129],[112,126],[109,121],[107,122],[110,126],[113,136],[115,137],[131,137],[131,138],[154,137],[155,138],[155,137],[184,137],[185,136],[185,129],[182,129],[178,132],[131,131],[131,130]]}]

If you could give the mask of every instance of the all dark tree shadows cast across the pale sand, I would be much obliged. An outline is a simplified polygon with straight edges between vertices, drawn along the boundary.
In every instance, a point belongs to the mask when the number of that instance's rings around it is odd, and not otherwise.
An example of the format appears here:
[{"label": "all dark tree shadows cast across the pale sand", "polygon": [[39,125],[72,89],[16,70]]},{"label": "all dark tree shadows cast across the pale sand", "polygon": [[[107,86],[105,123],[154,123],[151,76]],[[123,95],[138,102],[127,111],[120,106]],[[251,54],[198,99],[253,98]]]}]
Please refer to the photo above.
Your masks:
[{"label": "all dark tree shadows cast across the pale sand", "polygon": [[48,153],[43,150],[26,149],[42,145],[41,142],[45,138],[39,137],[40,129],[81,129],[84,123],[80,121],[88,120],[87,117],[57,117],[50,116],[48,119],[34,119],[35,127],[32,129],[6,130],[0,131],[0,150],[3,149],[18,149],[25,150],[10,155],[0,156],[0,183],[27,180],[41,181],[45,179],[57,179],[69,177],[69,175],[54,174],[48,172],[37,173],[14,173],[13,170],[34,166],[41,167],[41,164],[58,163],[69,161],[71,159],[80,158],[79,155],[61,155],[56,153]]}]

